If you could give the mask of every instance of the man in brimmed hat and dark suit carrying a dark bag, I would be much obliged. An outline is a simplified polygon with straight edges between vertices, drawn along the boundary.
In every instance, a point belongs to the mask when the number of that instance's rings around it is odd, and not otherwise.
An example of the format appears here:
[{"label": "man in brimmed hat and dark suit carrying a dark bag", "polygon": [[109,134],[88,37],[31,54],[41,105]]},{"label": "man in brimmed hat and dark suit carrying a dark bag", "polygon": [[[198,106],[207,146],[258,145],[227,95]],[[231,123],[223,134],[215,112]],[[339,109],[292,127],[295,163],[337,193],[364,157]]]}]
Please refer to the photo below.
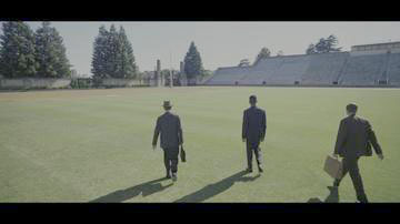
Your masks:
[{"label": "man in brimmed hat and dark suit carrying a dark bag", "polygon": [[167,179],[171,179],[172,171],[172,181],[177,181],[179,145],[183,144],[182,128],[179,116],[170,112],[172,105],[169,101],[164,101],[163,108],[164,114],[157,119],[152,147],[156,149],[158,136],[161,133]]}]

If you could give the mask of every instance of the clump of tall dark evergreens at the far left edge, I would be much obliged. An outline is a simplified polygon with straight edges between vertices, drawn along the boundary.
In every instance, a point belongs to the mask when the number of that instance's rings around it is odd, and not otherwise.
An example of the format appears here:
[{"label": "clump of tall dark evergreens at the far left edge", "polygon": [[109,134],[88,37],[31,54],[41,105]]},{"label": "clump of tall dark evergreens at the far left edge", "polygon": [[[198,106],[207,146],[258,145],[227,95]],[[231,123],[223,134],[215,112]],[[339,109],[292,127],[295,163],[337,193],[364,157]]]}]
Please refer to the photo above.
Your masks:
[{"label": "clump of tall dark evergreens at the far left edge", "polygon": [[64,78],[71,65],[59,32],[42,22],[32,31],[24,22],[3,22],[0,74],[6,78]]}]

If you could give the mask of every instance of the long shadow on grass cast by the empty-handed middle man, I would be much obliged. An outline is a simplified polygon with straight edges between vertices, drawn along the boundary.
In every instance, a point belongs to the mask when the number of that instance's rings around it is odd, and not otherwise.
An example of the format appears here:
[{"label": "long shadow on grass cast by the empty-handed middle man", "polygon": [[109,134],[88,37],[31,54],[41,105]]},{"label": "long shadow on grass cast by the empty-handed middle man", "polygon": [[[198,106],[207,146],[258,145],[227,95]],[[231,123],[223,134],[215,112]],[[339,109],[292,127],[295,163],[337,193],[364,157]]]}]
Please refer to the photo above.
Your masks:
[{"label": "long shadow on grass cast by the empty-handed middle man", "polygon": [[236,182],[251,182],[256,179],[260,177],[260,174],[257,176],[243,176],[247,174],[246,171],[238,172],[229,177],[226,177],[217,183],[209,184],[197,192],[188,194],[176,202],[203,202],[221,192],[227,191]]}]

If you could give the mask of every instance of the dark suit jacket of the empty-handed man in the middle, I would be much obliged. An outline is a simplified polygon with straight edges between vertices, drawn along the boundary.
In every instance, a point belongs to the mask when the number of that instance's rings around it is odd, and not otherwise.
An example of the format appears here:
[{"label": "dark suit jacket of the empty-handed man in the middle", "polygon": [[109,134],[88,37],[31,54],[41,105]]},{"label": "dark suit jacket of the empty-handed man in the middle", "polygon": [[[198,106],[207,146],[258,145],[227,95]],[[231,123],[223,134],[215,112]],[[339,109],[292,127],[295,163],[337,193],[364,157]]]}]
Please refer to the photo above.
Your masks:
[{"label": "dark suit jacket of the empty-handed man in the middle", "polygon": [[266,136],[266,112],[257,106],[251,106],[243,112],[242,139],[250,143],[259,143]]}]

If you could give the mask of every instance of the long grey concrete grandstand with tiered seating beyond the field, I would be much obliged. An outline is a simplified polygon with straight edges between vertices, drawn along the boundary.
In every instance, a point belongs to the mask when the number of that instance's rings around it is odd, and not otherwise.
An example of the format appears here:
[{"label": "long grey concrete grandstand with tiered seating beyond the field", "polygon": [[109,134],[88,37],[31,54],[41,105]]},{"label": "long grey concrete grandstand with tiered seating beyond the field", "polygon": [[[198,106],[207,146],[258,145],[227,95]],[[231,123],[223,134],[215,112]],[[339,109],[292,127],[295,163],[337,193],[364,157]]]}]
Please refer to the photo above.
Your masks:
[{"label": "long grey concrete grandstand with tiered seating beyond the field", "polygon": [[249,67],[219,68],[203,84],[400,86],[400,42],[353,45],[349,52],[270,57]]}]

